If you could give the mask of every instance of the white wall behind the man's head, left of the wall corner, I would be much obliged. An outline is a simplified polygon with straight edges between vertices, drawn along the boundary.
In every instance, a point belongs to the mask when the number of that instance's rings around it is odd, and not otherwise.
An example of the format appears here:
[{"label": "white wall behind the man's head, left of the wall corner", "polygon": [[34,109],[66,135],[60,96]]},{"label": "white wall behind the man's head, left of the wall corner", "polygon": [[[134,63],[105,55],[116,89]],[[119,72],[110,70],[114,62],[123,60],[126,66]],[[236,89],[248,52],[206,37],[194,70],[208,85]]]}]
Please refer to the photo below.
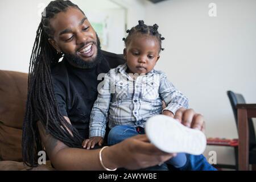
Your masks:
[{"label": "white wall behind the man's head, left of the wall corner", "polygon": [[[0,1],[0,69],[28,72],[32,47],[44,7],[50,0]],[[108,49],[123,52],[125,11],[109,0],[73,0],[89,20],[97,22],[101,16],[109,17]]]}]

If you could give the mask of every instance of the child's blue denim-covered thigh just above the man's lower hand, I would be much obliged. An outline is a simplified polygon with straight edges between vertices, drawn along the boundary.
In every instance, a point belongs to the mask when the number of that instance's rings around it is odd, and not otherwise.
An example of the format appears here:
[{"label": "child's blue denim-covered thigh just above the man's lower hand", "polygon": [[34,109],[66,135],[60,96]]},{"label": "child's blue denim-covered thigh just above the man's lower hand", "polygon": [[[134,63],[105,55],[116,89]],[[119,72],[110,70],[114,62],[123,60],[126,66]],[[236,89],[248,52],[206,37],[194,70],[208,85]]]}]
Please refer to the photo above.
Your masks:
[{"label": "child's blue denim-covered thigh just above the man's lower hand", "polygon": [[122,142],[122,140],[133,137],[135,135],[138,135],[138,132],[133,126],[115,126],[109,131],[108,145],[112,146],[114,144]]}]

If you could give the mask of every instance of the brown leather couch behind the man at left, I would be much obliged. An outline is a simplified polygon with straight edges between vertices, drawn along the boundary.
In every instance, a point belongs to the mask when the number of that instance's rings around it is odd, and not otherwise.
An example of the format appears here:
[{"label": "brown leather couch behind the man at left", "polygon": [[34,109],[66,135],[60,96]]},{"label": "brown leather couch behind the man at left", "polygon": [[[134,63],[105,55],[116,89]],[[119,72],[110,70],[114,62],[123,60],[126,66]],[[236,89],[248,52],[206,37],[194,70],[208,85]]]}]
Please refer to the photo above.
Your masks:
[{"label": "brown leather couch behind the man at left", "polygon": [[[27,73],[0,70],[0,171],[27,170],[22,162],[22,123]],[[33,170],[52,170],[49,161]]]}]

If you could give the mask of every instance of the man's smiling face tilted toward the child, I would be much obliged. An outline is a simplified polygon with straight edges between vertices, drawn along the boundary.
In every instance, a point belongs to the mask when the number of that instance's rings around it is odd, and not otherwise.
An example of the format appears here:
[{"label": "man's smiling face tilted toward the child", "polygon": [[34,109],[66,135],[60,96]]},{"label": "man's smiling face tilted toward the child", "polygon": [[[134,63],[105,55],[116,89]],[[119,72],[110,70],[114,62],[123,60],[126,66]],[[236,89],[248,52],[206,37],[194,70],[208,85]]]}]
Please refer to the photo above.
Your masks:
[{"label": "man's smiling face tilted toward the child", "polygon": [[55,33],[49,42],[56,51],[71,57],[72,60],[69,61],[81,64],[81,61],[90,63],[96,59],[99,41],[93,27],[80,10],[69,7],[67,11],[50,19],[50,24]]}]

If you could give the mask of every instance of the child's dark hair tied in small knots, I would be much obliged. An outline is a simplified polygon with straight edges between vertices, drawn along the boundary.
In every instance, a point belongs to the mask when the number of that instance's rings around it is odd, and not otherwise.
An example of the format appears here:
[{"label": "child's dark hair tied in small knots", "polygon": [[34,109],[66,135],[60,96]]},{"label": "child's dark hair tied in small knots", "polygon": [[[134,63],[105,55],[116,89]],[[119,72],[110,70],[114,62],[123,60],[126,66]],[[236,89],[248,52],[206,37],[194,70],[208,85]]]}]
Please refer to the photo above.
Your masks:
[{"label": "child's dark hair tied in small knots", "polygon": [[162,37],[161,34],[159,34],[157,24],[154,24],[153,26],[147,26],[146,24],[144,24],[143,20],[139,20],[139,24],[137,26],[131,28],[131,30],[127,30],[126,32],[128,36],[126,38],[123,38],[126,47],[131,42],[133,36],[139,33],[155,36],[155,38],[159,41],[159,53],[160,51],[164,50],[164,48],[162,48],[162,40],[164,40],[164,38]]}]

